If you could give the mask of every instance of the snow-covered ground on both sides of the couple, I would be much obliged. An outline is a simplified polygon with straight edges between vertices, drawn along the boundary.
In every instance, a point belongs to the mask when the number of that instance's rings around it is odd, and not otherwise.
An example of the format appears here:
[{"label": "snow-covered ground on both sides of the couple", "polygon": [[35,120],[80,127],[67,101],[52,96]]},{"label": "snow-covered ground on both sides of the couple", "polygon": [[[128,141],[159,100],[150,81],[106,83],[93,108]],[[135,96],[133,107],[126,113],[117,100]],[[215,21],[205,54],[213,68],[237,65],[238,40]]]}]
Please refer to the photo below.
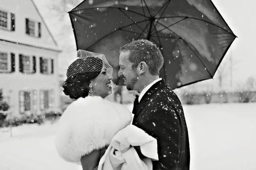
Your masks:
[{"label": "snow-covered ground on both sides of the couple", "polygon": [[[127,105],[132,109],[132,105]],[[184,105],[190,169],[256,169],[256,103]],[[0,129],[0,169],[81,169],[54,148],[57,123]]]}]

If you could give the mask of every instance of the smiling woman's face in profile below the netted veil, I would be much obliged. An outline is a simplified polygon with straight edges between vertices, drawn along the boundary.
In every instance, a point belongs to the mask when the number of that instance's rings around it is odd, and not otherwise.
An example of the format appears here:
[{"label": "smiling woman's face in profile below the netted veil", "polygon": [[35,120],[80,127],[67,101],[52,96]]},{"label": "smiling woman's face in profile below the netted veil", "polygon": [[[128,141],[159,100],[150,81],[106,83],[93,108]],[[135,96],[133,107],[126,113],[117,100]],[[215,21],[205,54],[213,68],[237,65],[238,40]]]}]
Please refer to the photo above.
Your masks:
[{"label": "smiling woman's face in profile below the netted veil", "polygon": [[91,80],[93,94],[99,95],[101,98],[105,98],[107,95],[111,94],[111,80],[113,80],[112,75],[103,68],[100,74],[95,79]]}]

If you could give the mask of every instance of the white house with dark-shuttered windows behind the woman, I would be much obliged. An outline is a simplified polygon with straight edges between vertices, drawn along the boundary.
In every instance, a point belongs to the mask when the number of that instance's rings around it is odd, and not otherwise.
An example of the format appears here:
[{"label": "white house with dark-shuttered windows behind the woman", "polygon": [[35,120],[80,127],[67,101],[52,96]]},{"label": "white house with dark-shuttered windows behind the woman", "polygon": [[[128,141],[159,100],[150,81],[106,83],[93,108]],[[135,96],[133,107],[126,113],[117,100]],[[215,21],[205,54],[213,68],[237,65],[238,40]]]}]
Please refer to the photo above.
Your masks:
[{"label": "white house with dark-shuttered windows behind the woman", "polygon": [[60,52],[32,0],[1,0],[0,88],[14,115],[58,108]]}]

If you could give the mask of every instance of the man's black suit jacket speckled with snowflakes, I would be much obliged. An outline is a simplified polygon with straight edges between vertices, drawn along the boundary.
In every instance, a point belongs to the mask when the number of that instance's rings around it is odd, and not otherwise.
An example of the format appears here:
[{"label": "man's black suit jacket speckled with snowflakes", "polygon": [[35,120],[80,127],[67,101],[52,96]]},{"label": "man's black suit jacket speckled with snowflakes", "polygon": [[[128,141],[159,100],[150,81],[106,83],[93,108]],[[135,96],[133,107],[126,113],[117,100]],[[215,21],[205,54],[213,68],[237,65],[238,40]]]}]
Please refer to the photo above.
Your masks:
[{"label": "man's black suit jacket speckled with snowflakes", "polygon": [[133,108],[133,125],[157,139],[159,161],[153,169],[189,169],[189,142],[178,96],[163,80],[154,84]]}]

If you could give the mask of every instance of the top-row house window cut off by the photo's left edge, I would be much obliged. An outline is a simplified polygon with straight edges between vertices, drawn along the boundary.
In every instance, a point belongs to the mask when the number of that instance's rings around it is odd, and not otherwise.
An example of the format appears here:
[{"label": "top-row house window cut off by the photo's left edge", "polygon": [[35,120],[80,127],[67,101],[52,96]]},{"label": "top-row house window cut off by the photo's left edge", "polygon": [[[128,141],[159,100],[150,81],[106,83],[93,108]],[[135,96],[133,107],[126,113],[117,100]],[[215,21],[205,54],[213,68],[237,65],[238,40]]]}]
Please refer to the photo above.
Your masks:
[{"label": "top-row house window cut off by the photo's left edge", "polygon": [[15,31],[15,15],[0,9],[0,28]]}]

